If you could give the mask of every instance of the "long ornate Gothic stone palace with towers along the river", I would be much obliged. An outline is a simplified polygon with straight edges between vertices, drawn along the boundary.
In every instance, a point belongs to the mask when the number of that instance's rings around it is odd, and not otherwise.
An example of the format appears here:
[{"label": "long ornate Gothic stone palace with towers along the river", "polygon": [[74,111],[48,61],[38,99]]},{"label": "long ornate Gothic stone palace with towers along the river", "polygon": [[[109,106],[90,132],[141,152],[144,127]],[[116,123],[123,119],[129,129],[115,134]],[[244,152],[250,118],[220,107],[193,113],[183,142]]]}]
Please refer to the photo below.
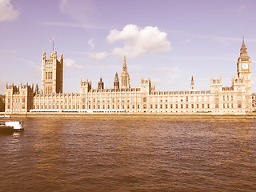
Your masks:
[{"label": "long ornate Gothic stone palace with towers along the river", "polygon": [[122,113],[122,114],[246,114],[252,111],[251,61],[242,39],[237,62],[238,77],[231,86],[222,86],[222,76],[210,78],[210,90],[159,91],[150,78],[140,86],[130,86],[126,58],[122,73],[115,74],[113,87],[106,89],[100,78],[98,88],[91,81],[80,81],[80,92],[63,93],[63,54],[56,49],[46,58],[42,53],[42,88],[26,83],[6,84],[6,114],[26,113]]}]

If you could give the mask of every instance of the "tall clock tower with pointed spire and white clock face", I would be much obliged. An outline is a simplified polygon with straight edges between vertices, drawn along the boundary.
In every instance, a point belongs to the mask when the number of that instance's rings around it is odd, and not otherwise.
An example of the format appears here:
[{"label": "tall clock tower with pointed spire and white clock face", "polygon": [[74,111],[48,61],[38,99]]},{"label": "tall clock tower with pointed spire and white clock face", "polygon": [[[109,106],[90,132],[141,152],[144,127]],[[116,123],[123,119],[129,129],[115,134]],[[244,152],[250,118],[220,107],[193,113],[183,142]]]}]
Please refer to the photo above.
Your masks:
[{"label": "tall clock tower with pointed spire and white clock face", "polygon": [[243,79],[246,88],[246,110],[252,109],[251,101],[251,61],[247,54],[247,48],[244,38],[242,38],[242,47],[240,49],[240,56],[238,58],[238,78]]}]

